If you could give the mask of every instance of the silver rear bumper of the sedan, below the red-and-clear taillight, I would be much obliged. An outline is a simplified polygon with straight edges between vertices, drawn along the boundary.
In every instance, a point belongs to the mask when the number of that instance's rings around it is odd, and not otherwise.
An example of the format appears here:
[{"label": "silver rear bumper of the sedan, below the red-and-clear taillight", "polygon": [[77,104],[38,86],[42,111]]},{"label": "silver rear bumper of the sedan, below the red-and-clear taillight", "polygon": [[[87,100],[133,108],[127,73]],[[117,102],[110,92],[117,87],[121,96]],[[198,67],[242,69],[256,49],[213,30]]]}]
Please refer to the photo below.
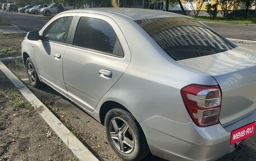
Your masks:
[{"label": "silver rear bumper of the sedan, below the red-and-clear taillight", "polygon": [[198,127],[154,116],[140,122],[153,155],[167,160],[216,160],[235,150],[220,124]]}]

